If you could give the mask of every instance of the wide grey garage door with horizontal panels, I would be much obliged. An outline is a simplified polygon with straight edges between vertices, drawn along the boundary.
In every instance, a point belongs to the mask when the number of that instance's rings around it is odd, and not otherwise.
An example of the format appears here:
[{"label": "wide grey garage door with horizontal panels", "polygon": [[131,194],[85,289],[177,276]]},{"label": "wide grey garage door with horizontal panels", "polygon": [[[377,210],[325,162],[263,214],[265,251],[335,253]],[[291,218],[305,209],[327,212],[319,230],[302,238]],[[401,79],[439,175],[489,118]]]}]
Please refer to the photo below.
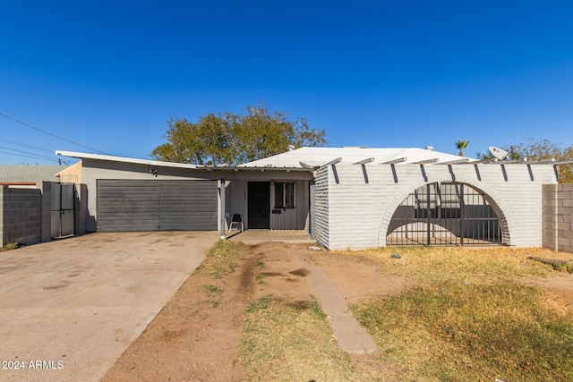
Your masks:
[{"label": "wide grey garage door with horizontal panels", "polygon": [[217,182],[98,180],[98,231],[217,231]]}]

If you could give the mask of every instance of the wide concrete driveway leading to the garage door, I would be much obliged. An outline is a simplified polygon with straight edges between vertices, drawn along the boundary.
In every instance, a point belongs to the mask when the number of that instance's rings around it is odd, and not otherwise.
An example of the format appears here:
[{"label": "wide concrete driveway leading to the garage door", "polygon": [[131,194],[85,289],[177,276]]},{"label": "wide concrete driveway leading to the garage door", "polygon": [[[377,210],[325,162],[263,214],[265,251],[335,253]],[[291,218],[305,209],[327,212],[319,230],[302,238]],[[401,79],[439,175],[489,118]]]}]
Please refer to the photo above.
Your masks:
[{"label": "wide concrete driveway leading to the garage door", "polygon": [[0,252],[0,380],[98,381],[217,239],[91,233]]}]

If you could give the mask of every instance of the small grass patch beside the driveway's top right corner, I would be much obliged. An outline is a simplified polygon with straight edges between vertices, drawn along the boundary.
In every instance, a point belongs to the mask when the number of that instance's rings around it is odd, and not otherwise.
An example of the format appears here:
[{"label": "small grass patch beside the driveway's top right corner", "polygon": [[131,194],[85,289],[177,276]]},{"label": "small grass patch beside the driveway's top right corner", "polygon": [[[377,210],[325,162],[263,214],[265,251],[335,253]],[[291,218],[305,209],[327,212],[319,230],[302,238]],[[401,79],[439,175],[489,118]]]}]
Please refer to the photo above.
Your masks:
[{"label": "small grass patch beside the driveway's top right corner", "polygon": [[219,240],[207,252],[205,259],[193,274],[201,273],[217,279],[235,272],[235,259],[239,256],[238,245],[240,244]]}]

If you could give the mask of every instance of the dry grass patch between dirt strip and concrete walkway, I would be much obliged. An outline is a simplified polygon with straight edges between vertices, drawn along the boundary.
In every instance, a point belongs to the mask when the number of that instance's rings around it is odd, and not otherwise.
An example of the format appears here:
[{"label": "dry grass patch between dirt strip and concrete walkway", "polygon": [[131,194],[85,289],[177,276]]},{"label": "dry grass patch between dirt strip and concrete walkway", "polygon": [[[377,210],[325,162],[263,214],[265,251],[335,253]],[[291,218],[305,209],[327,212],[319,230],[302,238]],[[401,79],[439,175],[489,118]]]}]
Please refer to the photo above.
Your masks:
[{"label": "dry grass patch between dirt strip and concrete walkway", "polygon": [[361,380],[314,299],[267,295],[252,302],[245,318],[239,358],[249,380]]}]

